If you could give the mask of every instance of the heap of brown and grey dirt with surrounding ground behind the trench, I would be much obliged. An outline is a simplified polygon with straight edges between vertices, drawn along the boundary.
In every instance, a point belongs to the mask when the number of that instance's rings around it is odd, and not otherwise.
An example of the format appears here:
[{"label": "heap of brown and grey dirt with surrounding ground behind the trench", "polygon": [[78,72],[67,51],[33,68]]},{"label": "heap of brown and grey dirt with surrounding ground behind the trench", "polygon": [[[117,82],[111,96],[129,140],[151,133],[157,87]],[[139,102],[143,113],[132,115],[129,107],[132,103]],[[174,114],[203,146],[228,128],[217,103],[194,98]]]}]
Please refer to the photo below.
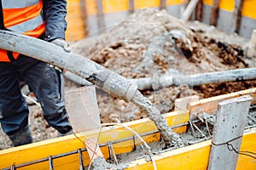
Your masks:
[{"label": "heap of brown and grey dirt with surrounding ground behind the trench", "polygon": [[[119,25],[98,36],[70,42],[73,51],[116,71],[127,78],[160,75],[191,75],[254,67],[254,59],[244,56],[242,47],[247,39],[229,35],[199,22],[183,23],[166,11],[143,8]],[[85,68],[86,69],[86,68]],[[181,80],[182,82],[183,80]],[[161,113],[174,111],[174,100],[191,95],[200,99],[254,88],[256,81],[224,82],[189,87],[144,90]],[[66,79],[66,90],[80,85]],[[96,88],[101,122],[130,122],[146,115],[135,105]],[[57,137],[49,127],[38,105],[29,106],[29,126],[34,142]],[[255,116],[254,116],[255,117]],[[8,137],[0,131],[0,150],[11,147]]]}]

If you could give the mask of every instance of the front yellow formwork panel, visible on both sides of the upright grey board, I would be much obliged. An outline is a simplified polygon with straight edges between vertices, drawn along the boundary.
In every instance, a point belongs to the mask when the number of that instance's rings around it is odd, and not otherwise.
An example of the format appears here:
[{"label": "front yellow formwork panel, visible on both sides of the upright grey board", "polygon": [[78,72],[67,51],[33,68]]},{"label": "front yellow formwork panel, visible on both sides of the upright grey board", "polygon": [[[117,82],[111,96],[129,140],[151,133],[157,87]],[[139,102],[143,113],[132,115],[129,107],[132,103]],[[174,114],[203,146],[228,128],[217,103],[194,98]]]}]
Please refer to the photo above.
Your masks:
[{"label": "front yellow formwork panel, visible on both sides of the upright grey board", "polygon": [[[256,128],[243,134],[241,141],[241,151],[256,152]],[[208,166],[208,160],[211,150],[211,140],[193,144],[181,149],[166,151],[160,155],[154,156],[157,169],[163,170],[176,170],[176,169],[194,169],[194,170],[206,170]],[[151,161],[145,159],[132,161],[129,167],[125,169],[136,170],[153,170],[153,164]],[[236,170],[255,170],[255,159],[249,156],[238,156]]]}]

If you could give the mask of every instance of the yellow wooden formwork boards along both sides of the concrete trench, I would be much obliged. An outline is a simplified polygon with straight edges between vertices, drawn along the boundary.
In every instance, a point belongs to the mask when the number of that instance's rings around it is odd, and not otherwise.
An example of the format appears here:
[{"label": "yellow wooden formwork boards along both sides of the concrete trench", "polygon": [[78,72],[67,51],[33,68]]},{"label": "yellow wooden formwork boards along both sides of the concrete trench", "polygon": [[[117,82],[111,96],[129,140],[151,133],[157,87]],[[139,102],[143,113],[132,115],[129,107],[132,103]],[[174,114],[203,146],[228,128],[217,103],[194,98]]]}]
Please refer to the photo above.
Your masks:
[{"label": "yellow wooden formwork boards along both sides of the concrete trench", "polygon": [[[189,122],[191,113],[200,115],[202,111],[208,111],[214,114],[217,105],[225,99],[233,99],[241,95],[250,95],[252,103],[255,103],[256,88],[240,91],[232,94],[224,94],[209,99],[201,99],[191,101],[188,108],[180,111],[173,111],[164,114],[166,122],[169,126],[175,127],[173,131],[176,133],[186,132],[186,123]],[[195,97],[193,97],[195,98]],[[210,107],[210,106],[211,107]],[[201,108],[201,110],[195,108]],[[203,108],[203,109],[202,109]],[[147,143],[160,140],[160,133],[157,133],[157,127],[154,122],[148,118],[124,123],[125,126],[131,127],[139,134],[144,134],[143,139]],[[179,126],[181,125],[181,126]],[[150,133],[156,132],[156,133]],[[0,150],[0,168],[4,169],[26,162],[34,163],[27,167],[19,169],[47,169],[49,168],[49,158],[53,159],[55,169],[79,169],[79,150],[84,150],[84,136],[86,138],[97,138],[105,159],[109,157],[109,143],[119,140],[119,143],[112,144],[116,155],[127,153],[133,150],[135,144],[133,133],[127,131],[124,127],[102,127],[101,130],[92,130],[75,135],[69,135],[57,139],[49,139],[34,144],[26,144],[23,146]],[[124,140],[126,139],[126,140]],[[256,127],[245,130],[242,135],[241,150],[256,150]],[[154,161],[158,169],[207,169],[208,160],[211,150],[212,140],[207,140],[197,144],[192,144],[177,150],[170,150],[154,156]],[[67,154],[69,153],[69,154]],[[90,157],[86,150],[82,152],[84,157],[84,166],[89,165]],[[58,158],[57,158],[58,157]],[[37,160],[40,162],[35,163]],[[33,162],[34,161],[34,162]],[[168,165],[168,166],[166,166]],[[153,169],[151,161],[145,159],[131,161],[127,169]],[[236,169],[256,169],[255,160],[252,157],[239,155]]]}]

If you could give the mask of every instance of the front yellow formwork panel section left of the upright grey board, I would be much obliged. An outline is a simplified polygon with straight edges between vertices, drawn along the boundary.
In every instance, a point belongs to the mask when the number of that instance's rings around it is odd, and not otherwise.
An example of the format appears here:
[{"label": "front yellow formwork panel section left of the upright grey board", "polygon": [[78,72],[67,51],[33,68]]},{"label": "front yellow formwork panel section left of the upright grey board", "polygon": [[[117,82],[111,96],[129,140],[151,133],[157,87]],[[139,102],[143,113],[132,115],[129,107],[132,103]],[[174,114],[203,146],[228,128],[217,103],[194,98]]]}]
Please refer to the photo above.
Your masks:
[{"label": "front yellow formwork panel section left of the upright grey board", "polygon": [[[154,156],[157,169],[176,170],[176,169],[196,169],[206,170],[208,157],[210,155],[211,140],[193,144],[181,149],[166,151]],[[153,170],[151,161],[145,159],[132,161],[126,169]]]}]

